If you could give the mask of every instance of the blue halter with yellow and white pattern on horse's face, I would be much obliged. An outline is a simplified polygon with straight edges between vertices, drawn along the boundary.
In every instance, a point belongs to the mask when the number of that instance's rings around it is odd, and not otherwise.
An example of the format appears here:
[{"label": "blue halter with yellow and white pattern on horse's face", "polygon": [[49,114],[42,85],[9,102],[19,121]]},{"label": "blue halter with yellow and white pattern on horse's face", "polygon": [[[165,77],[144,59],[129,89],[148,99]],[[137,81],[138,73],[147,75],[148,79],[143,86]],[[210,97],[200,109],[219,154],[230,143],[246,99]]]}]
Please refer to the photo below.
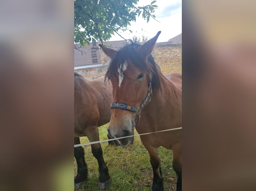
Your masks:
[{"label": "blue halter with yellow and white pattern on horse's face", "polygon": [[151,101],[151,97],[150,96],[152,95],[152,74],[151,74],[151,72],[149,72],[149,74],[150,74],[150,79],[148,81],[148,93],[147,93],[145,99],[140,104],[140,106],[134,107],[132,105],[128,105],[128,104],[122,103],[122,102],[113,102],[110,105],[111,109],[123,109],[123,110],[131,111],[131,112],[135,112],[136,115],[138,116],[138,120],[135,121],[135,124],[137,124],[140,121],[141,110],[146,105],[147,101],[148,102]]}]

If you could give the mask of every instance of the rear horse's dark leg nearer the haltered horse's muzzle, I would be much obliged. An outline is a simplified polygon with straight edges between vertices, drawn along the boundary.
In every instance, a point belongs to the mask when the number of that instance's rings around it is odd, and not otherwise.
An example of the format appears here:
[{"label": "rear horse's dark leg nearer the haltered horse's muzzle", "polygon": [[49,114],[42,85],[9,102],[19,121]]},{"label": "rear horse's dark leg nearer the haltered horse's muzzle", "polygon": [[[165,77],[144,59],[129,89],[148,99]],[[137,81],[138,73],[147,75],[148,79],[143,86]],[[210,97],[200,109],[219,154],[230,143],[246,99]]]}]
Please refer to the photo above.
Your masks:
[{"label": "rear horse's dark leg nearer the haltered horse's muzzle", "polygon": [[[99,138],[99,130],[97,126],[91,126],[86,129],[86,135],[90,142],[98,141]],[[106,189],[110,184],[110,176],[108,173],[108,167],[104,162],[102,156],[102,148],[100,143],[91,144],[93,156],[97,159],[99,164],[99,184],[98,188],[101,190]]]}]

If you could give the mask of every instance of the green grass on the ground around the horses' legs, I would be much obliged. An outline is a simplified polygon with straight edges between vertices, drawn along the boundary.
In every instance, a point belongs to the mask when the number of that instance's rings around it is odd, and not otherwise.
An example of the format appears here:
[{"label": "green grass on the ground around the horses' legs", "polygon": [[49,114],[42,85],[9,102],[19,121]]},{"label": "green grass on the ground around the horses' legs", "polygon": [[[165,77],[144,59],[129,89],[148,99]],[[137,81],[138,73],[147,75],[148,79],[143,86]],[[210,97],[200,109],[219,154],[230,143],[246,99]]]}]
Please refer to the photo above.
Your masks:
[{"label": "green grass on the ground around the horses' legs", "polygon": [[[108,139],[107,126],[99,127],[100,140]],[[134,130],[135,134],[138,134]],[[89,142],[87,137],[80,138],[81,143]],[[109,170],[111,179],[110,186],[106,191],[149,191],[153,183],[153,171],[149,161],[149,154],[141,143],[139,136],[134,137],[134,144],[131,147],[117,147],[108,145],[108,142],[101,143],[103,157]],[[91,152],[91,146],[83,146],[85,150],[85,161],[88,166],[88,179],[86,183],[76,191],[99,191],[97,188],[99,171],[98,163]],[[176,189],[176,173],[172,168],[172,151],[163,147],[158,148],[160,166],[162,170],[164,190],[174,191]],[[75,159],[75,158],[74,158]],[[75,174],[77,174],[77,163]]]}]

